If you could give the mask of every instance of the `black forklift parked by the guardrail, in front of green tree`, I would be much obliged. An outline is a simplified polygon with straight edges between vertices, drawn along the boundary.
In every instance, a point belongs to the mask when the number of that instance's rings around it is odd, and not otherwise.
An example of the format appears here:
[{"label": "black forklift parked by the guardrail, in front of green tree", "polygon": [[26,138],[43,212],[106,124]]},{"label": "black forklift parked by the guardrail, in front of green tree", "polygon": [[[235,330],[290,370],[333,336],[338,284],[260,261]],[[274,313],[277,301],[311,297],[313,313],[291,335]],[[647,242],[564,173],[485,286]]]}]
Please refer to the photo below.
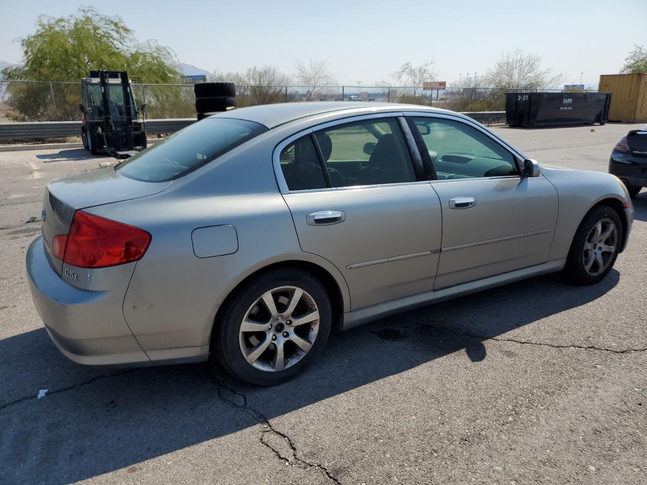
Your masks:
[{"label": "black forklift parked by the guardrail, in front of green tree", "polygon": [[146,104],[141,106],[140,122],[125,70],[91,70],[81,81],[81,92],[81,137],[85,149],[93,155],[106,153],[127,158],[146,148]]}]

